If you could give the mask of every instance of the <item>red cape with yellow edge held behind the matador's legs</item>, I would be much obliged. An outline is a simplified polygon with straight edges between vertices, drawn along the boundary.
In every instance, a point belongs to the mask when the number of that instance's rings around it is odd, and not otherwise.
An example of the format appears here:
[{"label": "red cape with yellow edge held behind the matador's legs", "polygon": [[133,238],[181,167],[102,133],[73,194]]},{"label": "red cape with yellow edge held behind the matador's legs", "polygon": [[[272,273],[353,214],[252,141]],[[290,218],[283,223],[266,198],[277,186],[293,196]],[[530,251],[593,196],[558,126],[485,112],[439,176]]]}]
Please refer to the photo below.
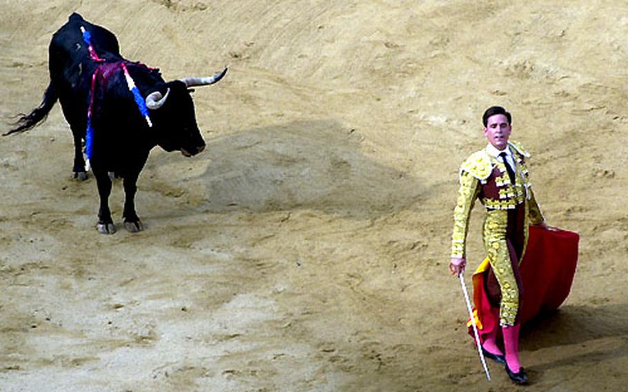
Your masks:
[{"label": "red cape with yellow edge held behind the matador's legs", "polygon": [[[579,239],[578,233],[571,231],[530,227],[528,246],[520,264],[524,287],[519,310],[522,324],[539,313],[557,309],[565,301],[576,273]],[[480,338],[499,326],[499,309],[491,308],[484,292],[484,277],[488,268],[489,260],[484,259],[473,273],[473,314]],[[471,320],[467,324],[473,336]]]}]

